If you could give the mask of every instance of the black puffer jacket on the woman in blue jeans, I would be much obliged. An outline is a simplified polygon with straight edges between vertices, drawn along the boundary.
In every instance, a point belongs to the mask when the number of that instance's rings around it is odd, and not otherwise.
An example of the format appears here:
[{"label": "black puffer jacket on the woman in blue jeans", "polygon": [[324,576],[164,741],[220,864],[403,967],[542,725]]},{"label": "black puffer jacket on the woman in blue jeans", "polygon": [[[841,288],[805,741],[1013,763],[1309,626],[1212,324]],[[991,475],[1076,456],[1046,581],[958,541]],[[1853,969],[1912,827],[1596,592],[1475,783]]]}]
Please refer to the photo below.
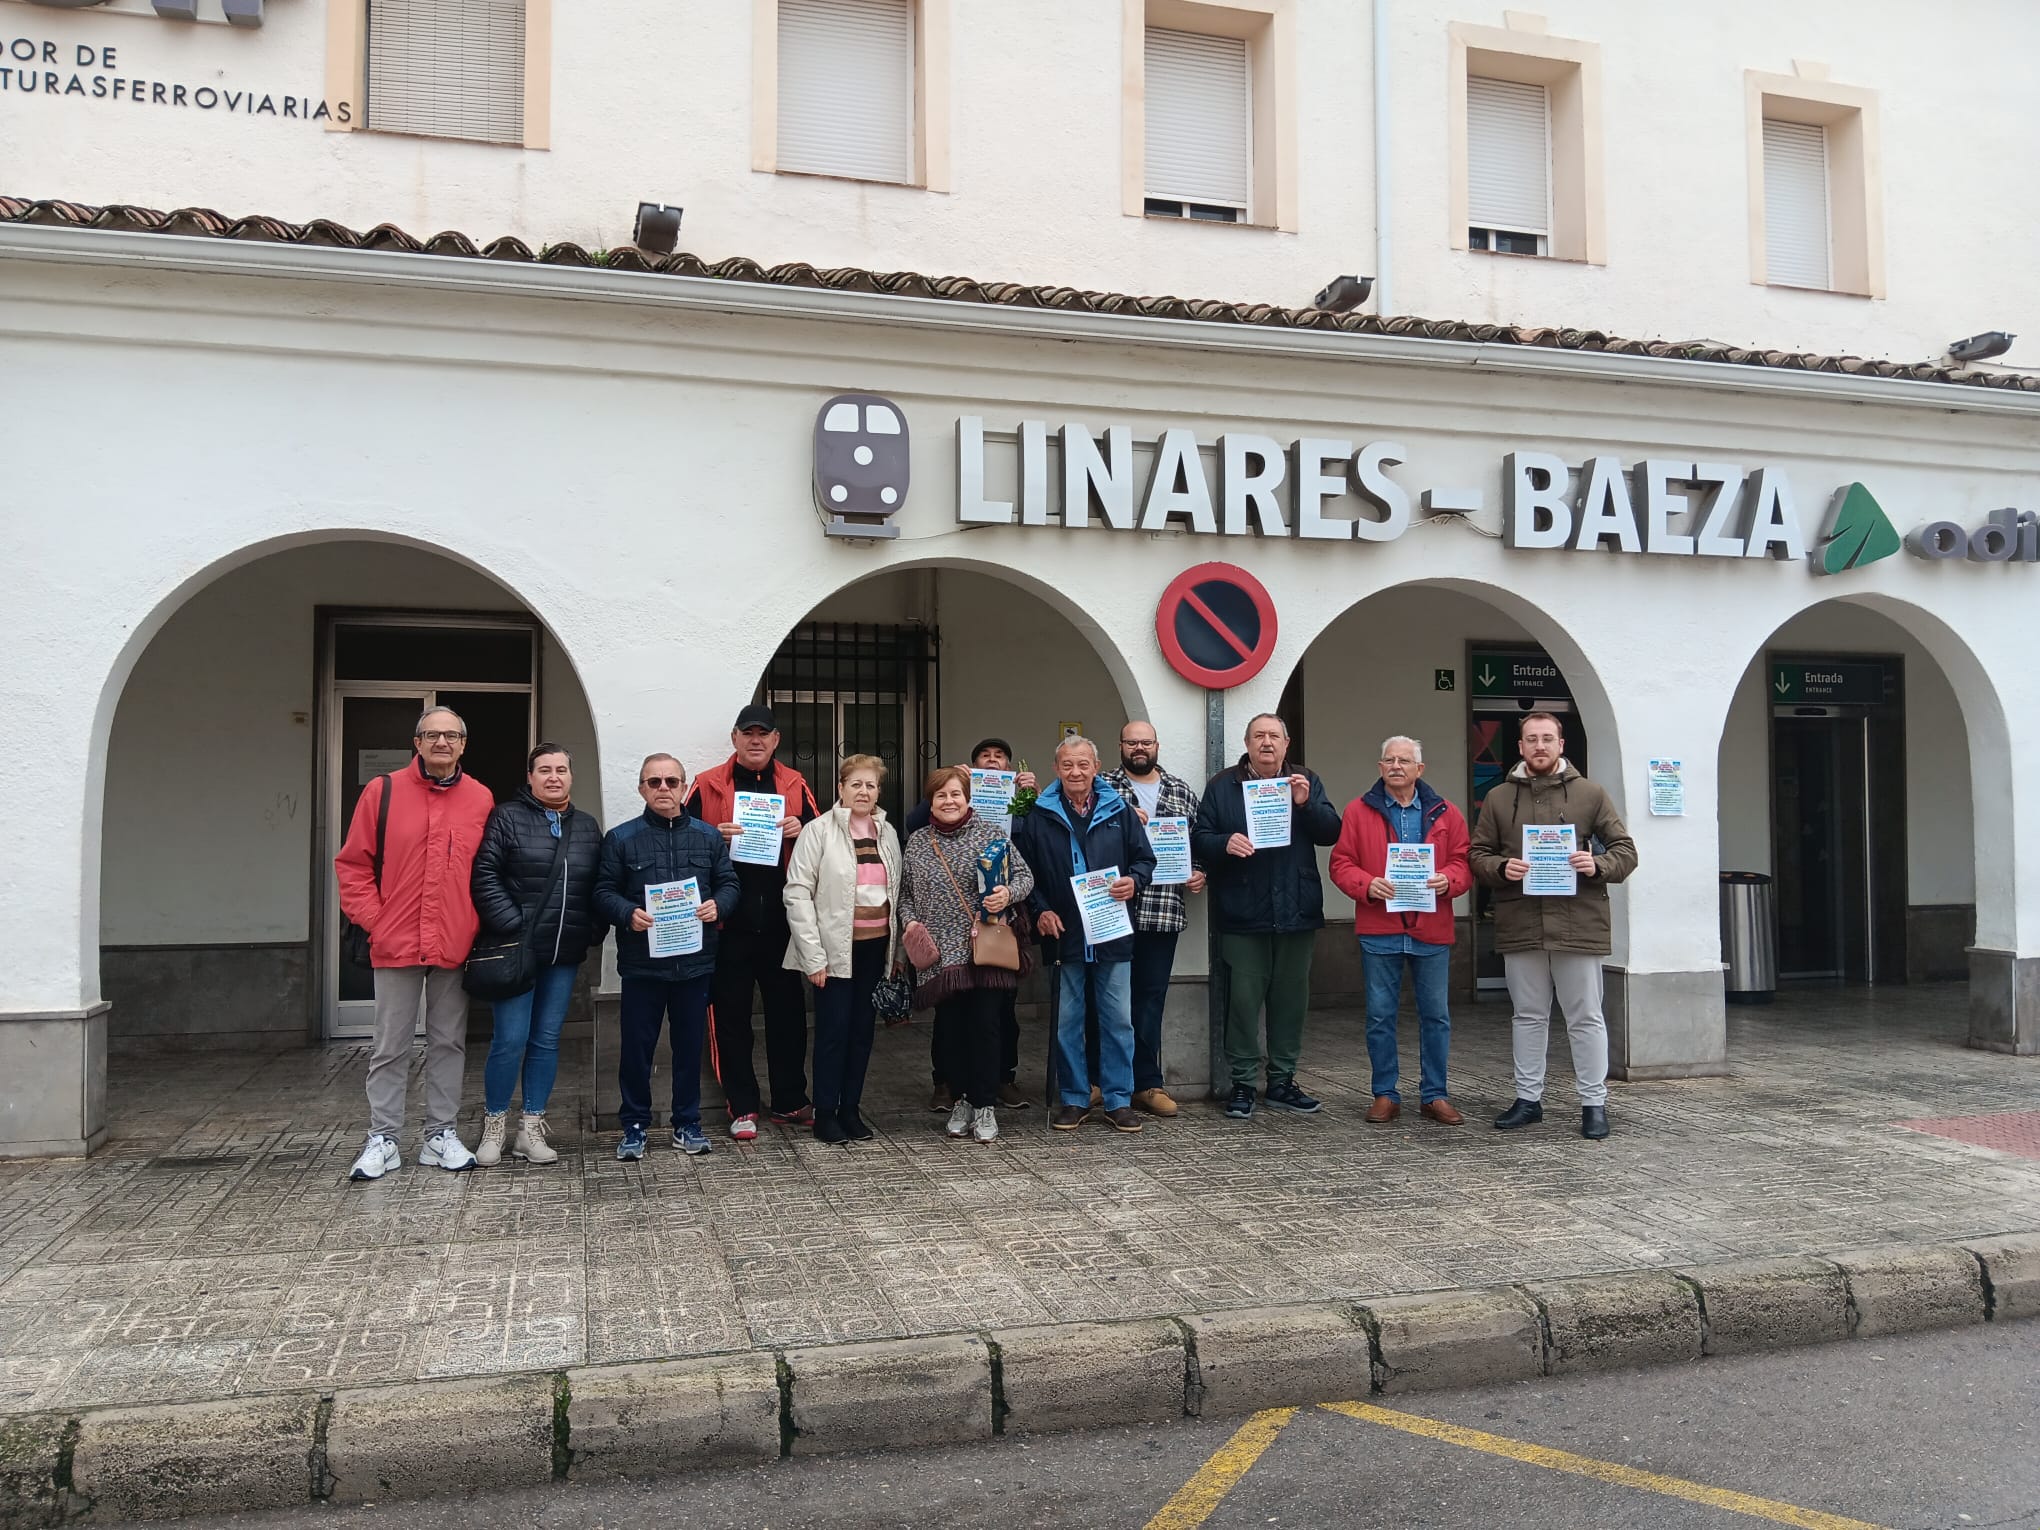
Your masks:
[{"label": "black puffer jacket on the woman in blue jeans", "polygon": [[510,802],[496,804],[481,830],[481,849],[475,851],[471,887],[483,936],[522,930],[524,910],[543,896],[545,908],[532,920],[532,951],[549,965],[579,965],[608,932],[608,922],[596,912],[602,824],[569,806],[561,814],[559,832],[567,840],[565,891],[551,879],[559,840],[553,838],[539,798],[526,787]]}]

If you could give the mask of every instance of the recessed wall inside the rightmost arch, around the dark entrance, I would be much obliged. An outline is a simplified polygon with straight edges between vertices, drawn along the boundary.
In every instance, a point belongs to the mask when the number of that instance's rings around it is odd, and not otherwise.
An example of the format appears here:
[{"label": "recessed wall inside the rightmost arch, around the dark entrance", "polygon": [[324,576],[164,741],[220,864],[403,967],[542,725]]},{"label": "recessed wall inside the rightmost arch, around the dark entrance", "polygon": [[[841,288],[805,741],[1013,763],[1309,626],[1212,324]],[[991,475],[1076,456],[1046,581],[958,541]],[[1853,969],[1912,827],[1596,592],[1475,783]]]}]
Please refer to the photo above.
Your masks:
[{"label": "recessed wall inside the rightmost arch, around the dark entrance", "polygon": [[1722,867],[1771,871],[1771,675],[1765,653],[1879,653],[1905,663],[1905,898],[1973,904],[1969,724],[1946,673],[1897,622],[1856,606],[1816,606],[1750,659],[1722,730]]}]

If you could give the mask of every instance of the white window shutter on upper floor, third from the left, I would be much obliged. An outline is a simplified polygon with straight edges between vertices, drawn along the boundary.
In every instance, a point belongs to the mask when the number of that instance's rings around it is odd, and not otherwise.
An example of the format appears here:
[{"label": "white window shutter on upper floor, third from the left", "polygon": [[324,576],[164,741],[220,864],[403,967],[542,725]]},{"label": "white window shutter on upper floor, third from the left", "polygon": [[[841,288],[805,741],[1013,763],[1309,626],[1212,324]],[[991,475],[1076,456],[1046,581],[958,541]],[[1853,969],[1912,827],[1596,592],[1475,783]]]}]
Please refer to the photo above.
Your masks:
[{"label": "white window shutter on upper floor, third from the left", "polygon": [[1253,135],[1246,41],[1149,27],[1146,194],[1244,208]]}]

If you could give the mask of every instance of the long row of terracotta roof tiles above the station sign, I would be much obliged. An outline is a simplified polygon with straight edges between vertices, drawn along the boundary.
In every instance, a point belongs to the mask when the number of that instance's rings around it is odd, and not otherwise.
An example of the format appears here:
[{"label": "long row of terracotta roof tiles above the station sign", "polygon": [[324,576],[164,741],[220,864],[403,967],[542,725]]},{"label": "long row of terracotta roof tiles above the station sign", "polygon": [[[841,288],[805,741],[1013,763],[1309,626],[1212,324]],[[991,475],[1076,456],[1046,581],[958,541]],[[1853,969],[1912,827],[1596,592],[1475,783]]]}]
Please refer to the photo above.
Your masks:
[{"label": "long row of terracotta roof tiles above the station sign", "polygon": [[1332,314],[1322,308],[1277,308],[1263,302],[1218,302],[1212,298],[1140,298],[1124,292],[1083,292],[1079,288],[1024,286],[1018,282],[975,282],[961,275],[922,275],[920,271],[867,271],[855,265],[816,269],[804,261],[759,265],[730,257],[704,261],[696,255],[649,255],[634,247],[588,251],[581,245],[545,245],[532,251],[522,239],[502,237],[477,247],[467,235],[439,233],[416,239],[388,222],[357,233],[328,218],[284,222],[282,218],[226,218],[210,208],[175,208],[155,212],[135,206],[86,206],[82,202],[27,200],[0,196],[0,224],[45,224],[57,228],[112,228],[118,233],[186,235],[200,239],[239,239],[273,245],[316,245],[330,249],[379,249],[410,255],[451,255],[459,259],[490,259],[514,263],[602,267],[608,271],[639,271],[647,275],[692,275],[714,282],[753,282],[775,288],[816,288],[824,292],[877,292],[906,298],[936,298],[942,302],[973,302],[1002,308],[1055,308],[1087,314],[1136,314],[1146,318],[1193,318],[1208,324],[1255,324],[1263,328],[1346,330],[1353,335],[1389,335],[1426,341],[1465,341],[1475,345],[1528,345],[1552,351],[1608,351],[1614,355],[1671,357],[1679,361],[1712,361],[1730,367],[1773,367],[1785,371],[1832,371],[1856,377],[1899,377],[1938,381],[1958,388],[2011,388],[2040,392],[2040,375],[2016,371],[1965,371],[1932,361],[1875,361],[1854,355],[1797,355],[1754,347],[1722,345],[1718,341],[1634,341],[1601,330],[1538,328],[1512,324],[1467,324],[1440,318],[1395,314]]}]

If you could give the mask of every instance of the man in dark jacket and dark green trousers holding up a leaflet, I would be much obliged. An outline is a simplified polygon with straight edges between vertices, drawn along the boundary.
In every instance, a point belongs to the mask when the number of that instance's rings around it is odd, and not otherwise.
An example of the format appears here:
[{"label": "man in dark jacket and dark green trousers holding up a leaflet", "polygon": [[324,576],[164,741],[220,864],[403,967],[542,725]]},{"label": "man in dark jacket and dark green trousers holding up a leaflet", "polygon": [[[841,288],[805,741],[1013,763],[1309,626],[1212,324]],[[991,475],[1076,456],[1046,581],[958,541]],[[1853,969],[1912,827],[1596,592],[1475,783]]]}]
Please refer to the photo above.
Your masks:
[{"label": "man in dark jacket and dark green trousers holding up a leaflet", "polygon": [[[1289,843],[1255,849],[1246,824],[1246,781],[1289,781]],[[1261,1012],[1267,1010],[1267,1073],[1263,1095],[1279,1110],[1316,1110],[1295,1085],[1304,1053],[1304,1012],[1310,1008],[1310,955],[1324,926],[1324,883],[1318,847],[1338,843],[1338,808],[1314,771],[1289,769],[1289,728],[1273,712],[1246,724],[1240,763],[1212,777],[1197,802],[1189,851],[1204,867],[1218,922],[1218,953],[1230,979],[1226,1057],[1232,1098],[1226,1114],[1255,1114],[1261,1073]]]}]

